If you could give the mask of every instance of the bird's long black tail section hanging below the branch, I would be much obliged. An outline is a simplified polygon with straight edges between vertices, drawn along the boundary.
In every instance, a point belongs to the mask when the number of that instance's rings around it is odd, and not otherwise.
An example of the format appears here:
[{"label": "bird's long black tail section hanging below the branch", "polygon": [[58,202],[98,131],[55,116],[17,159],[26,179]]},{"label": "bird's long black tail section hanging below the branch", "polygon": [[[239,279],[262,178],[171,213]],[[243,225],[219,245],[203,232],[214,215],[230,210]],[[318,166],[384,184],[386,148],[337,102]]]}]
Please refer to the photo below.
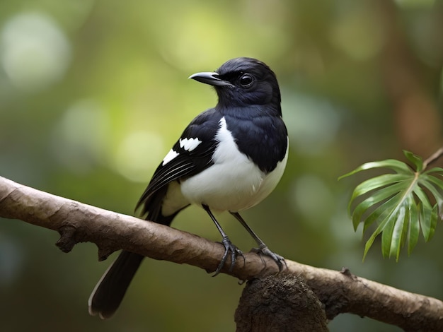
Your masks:
[{"label": "bird's long black tail section hanging below the branch", "polygon": [[115,262],[98,280],[91,297],[89,297],[89,314],[98,314],[101,319],[113,316],[143,259],[144,256],[130,251],[120,253]]}]

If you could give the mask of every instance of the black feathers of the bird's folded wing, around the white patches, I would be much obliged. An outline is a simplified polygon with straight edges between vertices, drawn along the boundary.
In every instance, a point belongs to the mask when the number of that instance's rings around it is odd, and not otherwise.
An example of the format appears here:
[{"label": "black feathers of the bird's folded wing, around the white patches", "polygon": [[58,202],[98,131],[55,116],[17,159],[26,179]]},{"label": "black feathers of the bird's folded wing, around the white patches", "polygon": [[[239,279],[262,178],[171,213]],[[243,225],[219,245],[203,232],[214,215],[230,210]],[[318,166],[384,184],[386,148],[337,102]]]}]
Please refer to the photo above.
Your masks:
[{"label": "black feathers of the bird's folded wing, around the white patches", "polygon": [[[221,117],[214,109],[208,109],[195,117],[186,127],[180,139],[172,148],[176,155],[171,160],[161,162],[154,172],[151,182],[149,182],[139,199],[136,209],[143,206],[142,215],[149,212],[149,218],[158,214],[168,184],[191,177],[213,165],[212,155],[215,148],[217,148],[215,134],[219,129]],[[183,145],[185,139],[198,140],[200,143],[195,148],[188,148]],[[181,145],[180,141],[182,142]],[[153,210],[156,210],[157,213],[153,213]],[[155,218],[149,219],[153,220]]]}]

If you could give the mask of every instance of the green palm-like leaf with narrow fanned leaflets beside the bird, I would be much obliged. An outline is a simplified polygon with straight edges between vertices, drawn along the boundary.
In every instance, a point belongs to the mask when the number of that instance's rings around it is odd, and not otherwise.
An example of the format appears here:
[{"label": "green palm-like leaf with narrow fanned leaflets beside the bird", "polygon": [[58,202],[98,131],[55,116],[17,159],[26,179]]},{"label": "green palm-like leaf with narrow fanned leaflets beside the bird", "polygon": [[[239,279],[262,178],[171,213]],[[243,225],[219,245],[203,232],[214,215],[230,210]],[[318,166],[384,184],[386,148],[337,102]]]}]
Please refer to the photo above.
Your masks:
[{"label": "green palm-like leaf with narrow fanned leaflets beside the bird", "polygon": [[[370,225],[377,225],[366,242],[364,257],[380,233],[383,256],[396,256],[397,260],[404,244],[408,244],[408,254],[411,253],[418,242],[420,228],[425,241],[434,235],[443,208],[443,168],[425,170],[422,158],[409,151],[403,152],[414,169],[405,162],[389,159],[367,162],[343,175],[348,177],[374,168],[393,171],[362,182],[352,193],[348,212],[354,229],[357,230],[359,223],[363,223],[363,232]],[[432,206],[428,195],[435,205]]]}]

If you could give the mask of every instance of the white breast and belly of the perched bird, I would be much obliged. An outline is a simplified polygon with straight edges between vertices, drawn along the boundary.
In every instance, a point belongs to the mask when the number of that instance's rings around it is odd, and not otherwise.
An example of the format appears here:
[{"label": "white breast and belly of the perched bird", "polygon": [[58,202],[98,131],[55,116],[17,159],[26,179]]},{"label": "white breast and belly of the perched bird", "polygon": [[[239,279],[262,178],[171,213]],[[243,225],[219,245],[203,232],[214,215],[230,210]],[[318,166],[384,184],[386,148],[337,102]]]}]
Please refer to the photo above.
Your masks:
[{"label": "white breast and belly of the perched bird", "polygon": [[287,153],[275,170],[265,174],[238,150],[224,118],[220,120],[216,140],[219,144],[212,156],[214,165],[181,182],[183,196],[214,211],[236,212],[260,203],[280,181]]}]

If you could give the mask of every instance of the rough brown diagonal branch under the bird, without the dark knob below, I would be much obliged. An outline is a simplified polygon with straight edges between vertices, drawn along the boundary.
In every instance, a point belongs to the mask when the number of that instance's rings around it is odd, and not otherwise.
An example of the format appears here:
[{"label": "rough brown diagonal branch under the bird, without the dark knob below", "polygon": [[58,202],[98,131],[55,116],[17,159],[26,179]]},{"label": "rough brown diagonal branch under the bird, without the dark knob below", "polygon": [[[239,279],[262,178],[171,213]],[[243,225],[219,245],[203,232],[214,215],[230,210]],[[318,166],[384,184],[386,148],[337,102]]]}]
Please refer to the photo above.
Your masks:
[{"label": "rough brown diagonal branch under the bird, without the dark knob below", "polygon": [[[47,194],[4,177],[0,177],[0,217],[57,230],[61,235],[57,246],[65,252],[79,242],[96,243],[100,260],[125,249],[212,272],[224,254],[222,244],[188,232]],[[246,264],[239,258],[233,271],[222,272],[241,280],[278,272],[268,257],[247,253],[245,259]],[[347,269],[332,271],[287,260],[284,273],[306,280],[325,304],[328,319],[349,312],[405,331],[443,331],[443,302],[435,298],[359,278]]]}]

